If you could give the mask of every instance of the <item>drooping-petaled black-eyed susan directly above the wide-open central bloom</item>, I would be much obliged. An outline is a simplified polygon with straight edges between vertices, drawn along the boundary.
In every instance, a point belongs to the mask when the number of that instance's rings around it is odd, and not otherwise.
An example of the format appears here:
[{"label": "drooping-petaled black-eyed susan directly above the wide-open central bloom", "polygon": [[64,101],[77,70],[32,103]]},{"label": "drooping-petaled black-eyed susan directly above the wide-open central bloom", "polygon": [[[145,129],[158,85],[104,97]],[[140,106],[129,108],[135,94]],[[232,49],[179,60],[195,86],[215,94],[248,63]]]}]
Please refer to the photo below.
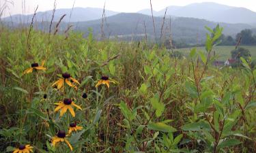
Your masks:
[{"label": "drooping-petaled black-eyed susan directly above the wide-open central bloom", "polygon": [[71,86],[73,88],[77,88],[72,82],[75,82],[76,84],[80,84],[76,79],[72,78],[70,73],[63,73],[62,78],[59,78],[57,82],[54,82],[52,86],[57,86],[57,89],[60,89],[64,87],[64,84],[68,84],[68,86]]}]

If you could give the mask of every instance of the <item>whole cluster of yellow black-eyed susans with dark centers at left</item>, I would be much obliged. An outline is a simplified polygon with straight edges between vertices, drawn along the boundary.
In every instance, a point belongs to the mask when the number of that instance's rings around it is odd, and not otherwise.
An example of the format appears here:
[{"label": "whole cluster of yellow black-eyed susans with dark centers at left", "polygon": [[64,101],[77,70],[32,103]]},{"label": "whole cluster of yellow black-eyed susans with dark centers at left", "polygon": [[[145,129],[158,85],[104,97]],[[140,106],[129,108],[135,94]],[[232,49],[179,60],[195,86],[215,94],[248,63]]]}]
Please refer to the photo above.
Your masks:
[{"label": "whole cluster of yellow black-eyed susans with dark centers at left", "polygon": [[[38,63],[32,63],[31,67],[28,69],[25,69],[23,74],[28,74],[28,73],[33,73],[33,71],[38,71],[42,70],[45,71],[46,67],[44,67],[44,61],[42,62],[41,65],[38,65]],[[70,86],[74,88],[75,90],[78,90],[78,86],[80,85],[79,81],[72,78],[70,73],[62,73],[62,78],[59,78],[56,82],[54,82],[51,86],[56,87],[57,90],[60,90],[63,92],[66,87]],[[109,88],[109,83],[115,83],[113,80],[109,80],[109,77],[104,75],[100,80],[98,80],[96,84],[96,88],[100,86],[101,84],[106,85]],[[67,85],[67,86],[66,86]],[[63,92],[64,93],[64,92]],[[81,96],[83,99],[87,99],[87,93],[83,93]],[[44,94],[43,95],[44,101],[48,101],[48,95]],[[67,112],[70,112],[71,116],[74,118],[76,116],[76,109],[82,110],[82,107],[79,105],[75,104],[75,99],[70,99],[70,98],[63,98],[62,101],[58,101],[58,103],[54,103],[56,105],[54,112],[59,112],[59,117],[63,118],[63,115],[66,114]],[[76,108],[76,109],[74,109]],[[48,109],[47,109],[48,111]],[[67,114],[68,116],[68,114]],[[51,117],[49,117],[51,118]],[[69,122],[70,120],[68,120]],[[67,121],[66,121],[67,122]],[[50,126],[48,120],[44,120],[42,124],[45,125],[46,128]],[[70,148],[72,151],[72,145],[70,144],[70,141],[68,141],[68,136],[72,135],[72,132],[76,131],[81,131],[83,129],[83,126],[79,126],[76,124],[76,122],[70,122],[69,126],[67,127],[66,130],[59,130],[57,134],[51,138],[51,144],[53,147],[57,146],[58,143],[66,143],[66,145]],[[66,131],[68,131],[68,135],[66,135]],[[23,146],[20,145],[18,148],[14,150],[13,153],[29,153],[33,152],[33,147],[30,146],[29,144]]]}]

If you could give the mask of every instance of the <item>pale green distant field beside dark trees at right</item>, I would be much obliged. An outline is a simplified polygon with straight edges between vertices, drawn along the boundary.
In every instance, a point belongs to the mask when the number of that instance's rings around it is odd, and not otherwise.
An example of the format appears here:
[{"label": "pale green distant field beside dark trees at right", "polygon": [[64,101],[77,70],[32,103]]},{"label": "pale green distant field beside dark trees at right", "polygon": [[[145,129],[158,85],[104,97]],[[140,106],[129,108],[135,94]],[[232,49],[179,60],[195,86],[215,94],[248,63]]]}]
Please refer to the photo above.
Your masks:
[{"label": "pale green distant field beside dark trees at right", "polygon": [[[247,48],[251,52],[251,56],[253,59],[256,58],[256,46],[241,46],[243,48]],[[187,56],[190,52],[190,49],[192,48],[179,48],[175,49],[175,51],[182,52],[185,56]],[[235,46],[216,46],[214,47],[214,50],[216,52],[216,55],[218,55],[218,60],[220,61],[226,61],[228,58],[231,57],[231,50],[234,50]],[[198,47],[197,50],[204,51],[205,47]]]}]

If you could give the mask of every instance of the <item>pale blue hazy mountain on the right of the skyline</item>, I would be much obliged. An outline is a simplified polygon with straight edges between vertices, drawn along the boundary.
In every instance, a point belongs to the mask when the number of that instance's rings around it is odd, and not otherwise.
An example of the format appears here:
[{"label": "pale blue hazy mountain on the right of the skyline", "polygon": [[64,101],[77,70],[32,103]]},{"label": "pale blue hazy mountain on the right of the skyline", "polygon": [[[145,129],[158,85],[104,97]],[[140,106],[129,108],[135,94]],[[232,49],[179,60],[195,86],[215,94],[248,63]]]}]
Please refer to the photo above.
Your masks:
[{"label": "pale blue hazy mountain on the right of the skyline", "polygon": [[[151,11],[143,10],[140,13],[150,15]],[[155,16],[164,16],[165,9],[159,12],[154,11]],[[215,22],[228,23],[247,23],[253,24],[256,22],[256,12],[243,7],[231,7],[218,3],[193,3],[183,7],[169,6],[167,10],[168,16],[180,16],[189,18],[201,18]]]}]

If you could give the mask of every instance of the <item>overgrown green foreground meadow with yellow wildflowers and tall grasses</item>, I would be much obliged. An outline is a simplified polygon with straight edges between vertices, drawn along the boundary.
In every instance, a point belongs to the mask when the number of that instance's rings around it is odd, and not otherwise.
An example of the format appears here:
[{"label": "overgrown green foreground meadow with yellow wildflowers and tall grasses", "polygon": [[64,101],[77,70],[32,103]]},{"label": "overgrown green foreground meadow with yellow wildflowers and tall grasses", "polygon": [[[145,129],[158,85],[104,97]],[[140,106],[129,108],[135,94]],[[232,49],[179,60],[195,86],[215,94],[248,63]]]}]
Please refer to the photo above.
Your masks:
[{"label": "overgrown green foreground meadow with yellow wildflowers and tall grasses", "polygon": [[0,152],[256,152],[256,70],[212,67],[213,50],[233,49],[214,47],[222,30],[178,59],[145,41],[0,27]]}]

